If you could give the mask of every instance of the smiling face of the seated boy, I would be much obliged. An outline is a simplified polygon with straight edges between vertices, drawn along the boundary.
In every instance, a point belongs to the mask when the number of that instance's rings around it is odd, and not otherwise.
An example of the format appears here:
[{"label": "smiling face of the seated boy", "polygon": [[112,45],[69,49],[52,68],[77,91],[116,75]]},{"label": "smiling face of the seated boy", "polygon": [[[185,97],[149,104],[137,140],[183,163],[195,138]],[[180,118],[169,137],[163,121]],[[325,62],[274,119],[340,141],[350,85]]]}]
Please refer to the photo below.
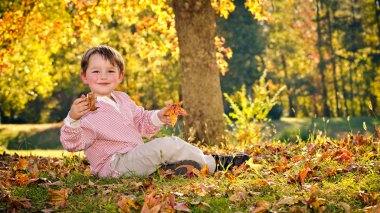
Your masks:
[{"label": "smiling face of the seated boy", "polygon": [[123,80],[124,73],[99,54],[90,57],[87,70],[81,72],[84,84],[88,84],[97,96],[111,97],[111,92]]}]

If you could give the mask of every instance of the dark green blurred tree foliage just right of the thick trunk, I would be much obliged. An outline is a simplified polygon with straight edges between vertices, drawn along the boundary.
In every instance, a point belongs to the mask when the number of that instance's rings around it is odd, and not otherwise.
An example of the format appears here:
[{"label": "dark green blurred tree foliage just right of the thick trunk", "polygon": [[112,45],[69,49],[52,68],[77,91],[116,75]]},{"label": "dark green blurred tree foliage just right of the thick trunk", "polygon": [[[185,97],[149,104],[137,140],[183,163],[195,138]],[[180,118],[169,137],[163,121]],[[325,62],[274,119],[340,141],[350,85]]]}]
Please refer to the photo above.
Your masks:
[{"label": "dark green blurred tree foliage just right of the thick trunk", "polygon": [[[222,90],[233,93],[242,85],[250,88],[260,77],[257,56],[264,54],[267,43],[263,27],[244,6],[245,0],[234,1],[235,10],[228,19],[217,21],[217,33],[226,39],[226,46],[231,48],[233,56],[228,60],[228,72],[221,78]],[[228,108],[225,111],[228,112]]]}]

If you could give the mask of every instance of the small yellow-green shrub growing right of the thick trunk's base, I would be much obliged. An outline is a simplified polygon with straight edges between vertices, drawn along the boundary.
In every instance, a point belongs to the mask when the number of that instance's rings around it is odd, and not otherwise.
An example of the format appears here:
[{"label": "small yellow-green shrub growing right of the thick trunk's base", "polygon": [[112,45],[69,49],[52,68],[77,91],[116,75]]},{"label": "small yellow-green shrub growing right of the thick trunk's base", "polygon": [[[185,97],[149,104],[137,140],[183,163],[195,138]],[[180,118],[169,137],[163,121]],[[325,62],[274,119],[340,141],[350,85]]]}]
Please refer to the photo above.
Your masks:
[{"label": "small yellow-green shrub growing right of the thick trunk's base", "polygon": [[277,103],[279,94],[285,89],[282,87],[273,96],[265,81],[266,72],[252,86],[252,95],[247,93],[245,85],[233,95],[224,94],[230,104],[232,112],[226,116],[227,124],[231,128],[231,139],[243,145],[254,144],[262,137],[262,126],[269,121],[268,113]]}]

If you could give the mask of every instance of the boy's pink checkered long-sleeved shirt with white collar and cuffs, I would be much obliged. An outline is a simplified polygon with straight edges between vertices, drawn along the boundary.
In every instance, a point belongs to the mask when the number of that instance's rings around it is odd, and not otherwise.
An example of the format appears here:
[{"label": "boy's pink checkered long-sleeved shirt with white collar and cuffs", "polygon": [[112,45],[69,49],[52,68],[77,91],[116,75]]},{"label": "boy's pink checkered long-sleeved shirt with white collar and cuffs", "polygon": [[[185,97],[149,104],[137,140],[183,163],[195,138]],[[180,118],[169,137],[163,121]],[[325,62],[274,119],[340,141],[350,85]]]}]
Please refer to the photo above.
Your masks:
[{"label": "boy's pink checkered long-sleeved shirt with white collar and cuffs", "polygon": [[[98,97],[95,111],[79,121],[65,119],[61,128],[61,143],[71,152],[84,150],[91,172],[100,177],[118,177],[110,168],[115,153],[126,153],[143,144],[142,137],[157,133],[162,123],[157,121],[158,111],[144,110],[123,92],[112,92],[116,101]],[[108,99],[108,100],[107,100]]]}]

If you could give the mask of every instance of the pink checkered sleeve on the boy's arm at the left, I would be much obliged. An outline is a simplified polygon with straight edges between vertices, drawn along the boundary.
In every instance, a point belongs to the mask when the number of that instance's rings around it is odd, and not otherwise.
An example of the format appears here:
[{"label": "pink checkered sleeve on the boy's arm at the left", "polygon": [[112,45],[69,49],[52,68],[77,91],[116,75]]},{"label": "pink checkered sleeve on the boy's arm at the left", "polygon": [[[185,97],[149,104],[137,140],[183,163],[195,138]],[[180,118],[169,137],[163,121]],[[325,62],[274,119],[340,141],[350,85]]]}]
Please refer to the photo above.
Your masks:
[{"label": "pink checkered sleeve on the boy's arm at the left", "polygon": [[[63,148],[69,152],[84,150],[93,144],[96,138],[96,132],[93,130],[90,123],[81,122],[80,120],[69,123],[67,117],[64,120],[64,125],[61,127],[60,141]],[[78,125],[79,126],[76,126]],[[74,127],[73,127],[74,125]]]}]

